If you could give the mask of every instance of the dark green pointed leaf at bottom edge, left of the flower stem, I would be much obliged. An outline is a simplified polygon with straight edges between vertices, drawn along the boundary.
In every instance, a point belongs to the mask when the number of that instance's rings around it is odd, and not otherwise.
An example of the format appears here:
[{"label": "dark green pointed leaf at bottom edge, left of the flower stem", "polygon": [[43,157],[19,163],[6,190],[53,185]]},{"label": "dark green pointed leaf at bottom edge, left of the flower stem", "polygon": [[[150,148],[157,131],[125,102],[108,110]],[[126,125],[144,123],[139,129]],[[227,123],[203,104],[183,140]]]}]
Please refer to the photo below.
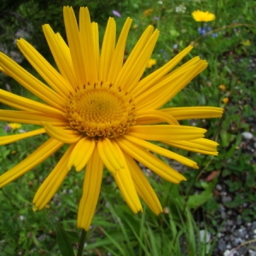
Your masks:
[{"label": "dark green pointed leaf at bottom edge, left of the flower stem", "polygon": [[57,243],[61,250],[62,256],[74,256],[73,247],[68,239],[67,232],[61,227],[61,224],[55,222],[55,229],[57,233]]}]

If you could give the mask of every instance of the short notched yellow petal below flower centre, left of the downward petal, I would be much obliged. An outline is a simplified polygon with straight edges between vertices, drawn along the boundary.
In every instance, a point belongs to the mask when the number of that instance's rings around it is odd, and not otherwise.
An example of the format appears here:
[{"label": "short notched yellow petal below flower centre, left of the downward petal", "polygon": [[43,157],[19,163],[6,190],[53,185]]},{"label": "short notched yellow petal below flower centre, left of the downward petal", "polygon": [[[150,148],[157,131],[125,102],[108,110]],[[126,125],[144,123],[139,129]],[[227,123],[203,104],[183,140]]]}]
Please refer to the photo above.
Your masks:
[{"label": "short notched yellow petal below flower centre, left of the downward petal", "polygon": [[95,145],[95,139],[89,139],[88,137],[80,139],[70,154],[67,164],[68,170],[70,170],[72,166],[75,166],[76,171],[80,172],[90,160],[90,156],[94,151]]}]

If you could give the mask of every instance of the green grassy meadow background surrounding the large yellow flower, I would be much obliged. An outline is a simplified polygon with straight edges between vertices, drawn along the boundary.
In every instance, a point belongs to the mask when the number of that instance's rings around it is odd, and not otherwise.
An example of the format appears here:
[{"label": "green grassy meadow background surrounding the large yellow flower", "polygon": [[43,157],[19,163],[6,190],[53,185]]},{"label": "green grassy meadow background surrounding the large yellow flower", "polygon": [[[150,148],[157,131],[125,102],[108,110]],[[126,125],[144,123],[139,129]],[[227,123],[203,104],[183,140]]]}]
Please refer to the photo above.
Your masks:
[{"label": "green grassy meadow background surrounding the large yellow flower", "polygon": [[[100,197],[92,229],[87,236],[86,255],[212,255],[218,231],[216,226],[222,219],[216,214],[222,195],[216,190],[221,183],[232,201],[225,207],[240,211],[241,218],[252,221],[256,218],[255,189],[255,141],[241,136],[243,131],[254,132],[256,122],[255,65],[256,24],[254,1],[246,3],[238,0],[227,1],[43,1],[20,0],[1,2],[0,50],[10,55],[18,53],[14,44],[17,38],[24,37],[44,57],[53,63],[44,39],[41,26],[49,23],[55,32],[61,32],[65,38],[62,6],[72,5],[78,13],[79,6],[88,6],[92,20],[100,26],[100,37],[105,29],[112,10],[122,15],[117,29],[124,24],[126,16],[133,18],[133,24],[127,41],[126,53],[131,52],[137,39],[148,24],[160,29],[160,38],[152,58],[155,66],[146,71],[151,73],[165,64],[185,46],[193,42],[194,49],[185,61],[200,55],[207,59],[209,66],[194,79],[182,93],[177,94],[167,107],[216,106],[225,109],[222,119],[202,119],[184,121],[186,125],[206,128],[207,138],[219,143],[218,157],[193,154],[172,148],[195,160],[199,171],[182,168],[188,182],[178,187],[166,183],[154,176],[148,177],[157,195],[160,196],[165,213],[155,217],[144,207],[141,214],[134,215],[122,201],[113,177],[104,173],[102,195]],[[184,13],[178,13],[176,7],[186,7]],[[152,9],[148,15],[144,11]],[[195,9],[209,10],[216,20],[201,25],[190,15]],[[158,17],[158,19],[155,19]],[[205,35],[198,30],[208,29]],[[55,65],[53,63],[53,65]],[[23,60],[22,66],[35,76],[32,67]],[[0,87],[20,96],[34,96],[13,79],[0,74]],[[220,90],[220,84],[225,90]],[[223,99],[229,98],[228,103]],[[2,108],[6,108],[2,106]],[[0,127],[0,136],[12,135],[20,131],[4,131],[6,123]],[[35,125],[22,125],[21,129],[32,131]],[[0,174],[15,166],[40,144],[46,135],[28,138],[17,143],[0,147]],[[254,148],[254,154],[252,149]],[[0,254],[2,255],[61,255],[56,242],[70,243],[77,249],[78,230],[75,219],[82,190],[83,173],[71,172],[61,185],[58,193],[42,212],[32,211],[32,198],[44,178],[61,158],[65,148],[61,148],[51,159],[44,161],[17,181],[0,189]],[[211,175],[214,174],[214,177]],[[200,212],[198,218],[197,213]],[[52,221],[53,216],[56,218]],[[58,224],[53,224],[58,223]],[[204,222],[204,230],[214,234],[210,243],[201,241],[197,222]],[[63,225],[62,227],[59,225]],[[56,229],[55,229],[56,227]],[[66,231],[64,231],[66,230]],[[67,231],[68,230],[68,231]],[[215,233],[214,233],[215,232]],[[60,238],[62,237],[62,238]],[[61,246],[63,247],[63,246]],[[69,247],[71,250],[71,247]],[[67,250],[66,250],[67,251]],[[62,253],[63,254],[63,253]],[[64,254],[63,254],[64,255]],[[69,253],[72,255],[72,253]]]}]

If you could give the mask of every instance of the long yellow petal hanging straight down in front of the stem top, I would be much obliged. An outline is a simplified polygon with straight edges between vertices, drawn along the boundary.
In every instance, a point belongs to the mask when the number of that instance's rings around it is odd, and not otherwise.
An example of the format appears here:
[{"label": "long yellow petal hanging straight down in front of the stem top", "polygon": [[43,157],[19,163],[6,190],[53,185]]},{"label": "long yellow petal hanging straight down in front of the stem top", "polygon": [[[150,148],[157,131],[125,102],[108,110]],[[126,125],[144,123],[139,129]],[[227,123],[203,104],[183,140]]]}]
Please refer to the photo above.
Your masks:
[{"label": "long yellow petal hanging straight down in front of the stem top", "polygon": [[103,163],[94,149],[86,166],[83,195],[79,202],[78,228],[89,230],[102,185]]}]

